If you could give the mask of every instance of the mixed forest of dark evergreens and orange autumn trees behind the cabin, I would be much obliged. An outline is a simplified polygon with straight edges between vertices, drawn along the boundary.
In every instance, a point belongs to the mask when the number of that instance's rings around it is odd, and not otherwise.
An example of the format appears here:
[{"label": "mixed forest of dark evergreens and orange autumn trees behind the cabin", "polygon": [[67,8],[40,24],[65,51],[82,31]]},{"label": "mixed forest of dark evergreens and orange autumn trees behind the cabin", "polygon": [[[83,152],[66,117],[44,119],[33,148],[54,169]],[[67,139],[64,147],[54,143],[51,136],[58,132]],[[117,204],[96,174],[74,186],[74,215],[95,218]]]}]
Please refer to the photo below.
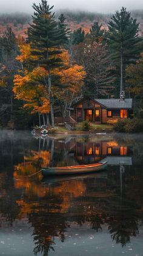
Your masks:
[{"label": "mixed forest of dark evergreens and orange autumn trees behind the cabin", "polygon": [[[33,4],[32,17],[1,15],[0,23],[8,24],[0,35],[1,128],[54,127],[54,117],[68,116],[82,97],[119,98],[121,90],[133,98],[134,118],[143,124],[142,16],[125,7],[96,18],[54,13],[45,0]],[[13,27],[27,23],[24,36],[15,33]]]}]

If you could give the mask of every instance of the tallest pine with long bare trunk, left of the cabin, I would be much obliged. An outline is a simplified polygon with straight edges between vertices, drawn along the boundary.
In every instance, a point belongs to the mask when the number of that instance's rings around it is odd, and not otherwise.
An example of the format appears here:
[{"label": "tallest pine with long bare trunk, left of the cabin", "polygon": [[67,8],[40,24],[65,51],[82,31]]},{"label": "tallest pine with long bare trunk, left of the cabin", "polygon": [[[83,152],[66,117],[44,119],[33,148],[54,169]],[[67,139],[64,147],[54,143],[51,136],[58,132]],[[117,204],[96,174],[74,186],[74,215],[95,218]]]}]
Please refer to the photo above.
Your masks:
[{"label": "tallest pine with long bare trunk, left of the cabin", "polygon": [[64,32],[59,29],[55,21],[55,13],[52,13],[53,6],[50,7],[46,0],[42,0],[39,5],[33,4],[35,10],[33,24],[28,29],[28,41],[32,46],[32,54],[38,56],[36,65],[44,67],[48,71],[48,94],[50,99],[50,112],[52,126],[54,127],[53,97],[52,97],[52,68],[62,65],[59,57],[63,44]]}]

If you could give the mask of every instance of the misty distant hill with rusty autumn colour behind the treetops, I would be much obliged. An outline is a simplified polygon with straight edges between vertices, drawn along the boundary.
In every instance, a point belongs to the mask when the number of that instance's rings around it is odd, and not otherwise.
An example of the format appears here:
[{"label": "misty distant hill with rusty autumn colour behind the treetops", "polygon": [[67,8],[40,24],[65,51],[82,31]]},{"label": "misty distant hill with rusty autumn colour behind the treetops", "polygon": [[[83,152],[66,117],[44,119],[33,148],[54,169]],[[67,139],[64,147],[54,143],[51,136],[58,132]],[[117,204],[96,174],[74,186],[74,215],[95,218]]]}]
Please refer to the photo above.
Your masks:
[{"label": "misty distant hill with rusty autumn colour behind the treetops", "polygon": [[[102,23],[104,29],[107,29],[108,20],[111,14],[91,13],[91,12],[72,12],[69,10],[58,10],[56,18],[64,13],[68,27],[71,30],[82,27],[87,33],[94,21]],[[134,10],[131,12],[133,18],[136,18],[140,23],[140,34],[143,34],[143,10]],[[0,34],[3,34],[7,27],[12,27],[13,32],[18,36],[26,37],[25,32],[32,22],[32,16],[27,13],[12,13],[0,15]]]}]

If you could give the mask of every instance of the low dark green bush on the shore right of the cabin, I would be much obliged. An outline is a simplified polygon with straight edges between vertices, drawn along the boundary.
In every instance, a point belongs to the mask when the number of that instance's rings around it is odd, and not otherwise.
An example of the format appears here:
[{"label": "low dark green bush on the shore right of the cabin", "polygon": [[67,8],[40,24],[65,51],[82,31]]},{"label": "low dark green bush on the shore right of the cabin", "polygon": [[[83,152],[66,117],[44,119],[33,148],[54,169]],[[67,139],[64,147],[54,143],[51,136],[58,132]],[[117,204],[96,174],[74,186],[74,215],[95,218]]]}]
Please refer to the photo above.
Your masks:
[{"label": "low dark green bush on the shore right of the cabin", "polygon": [[133,118],[119,120],[115,124],[114,130],[117,132],[143,132],[143,119]]}]

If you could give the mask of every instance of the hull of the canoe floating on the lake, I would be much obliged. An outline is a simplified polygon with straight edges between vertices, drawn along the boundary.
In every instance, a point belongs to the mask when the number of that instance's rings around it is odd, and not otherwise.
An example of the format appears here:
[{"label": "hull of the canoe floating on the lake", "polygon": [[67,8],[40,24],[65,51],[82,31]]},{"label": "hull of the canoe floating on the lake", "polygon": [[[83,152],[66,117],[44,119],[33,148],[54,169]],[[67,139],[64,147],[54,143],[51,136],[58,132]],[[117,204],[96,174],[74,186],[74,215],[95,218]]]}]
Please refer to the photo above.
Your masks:
[{"label": "hull of the canoe floating on the lake", "polygon": [[[88,166],[88,165],[87,165]],[[67,167],[68,168],[68,167]],[[87,168],[77,168],[77,169],[63,169],[61,168],[42,168],[42,175],[43,176],[52,176],[52,175],[67,175],[67,174],[83,174],[83,173],[90,173],[101,171],[107,168],[107,162],[102,162],[99,166],[88,166]]]}]

